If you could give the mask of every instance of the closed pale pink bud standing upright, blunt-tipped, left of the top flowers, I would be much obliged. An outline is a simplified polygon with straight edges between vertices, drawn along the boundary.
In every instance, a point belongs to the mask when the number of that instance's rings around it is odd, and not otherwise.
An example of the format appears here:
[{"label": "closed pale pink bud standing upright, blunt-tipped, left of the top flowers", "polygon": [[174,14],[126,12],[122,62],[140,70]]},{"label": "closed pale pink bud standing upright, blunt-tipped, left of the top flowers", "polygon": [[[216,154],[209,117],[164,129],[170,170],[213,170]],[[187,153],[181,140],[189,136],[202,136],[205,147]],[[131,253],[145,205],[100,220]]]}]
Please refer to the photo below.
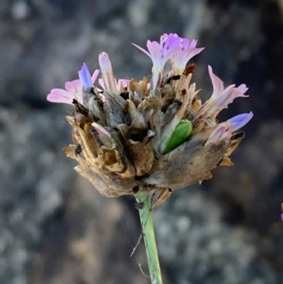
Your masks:
[{"label": "closed pale pink bud standing upright, blunt-tipped, left of the top flowers", "polygon": [[104,89],[108,91],[116,91],[115,77],[112,70],[112,64],[106,52],[101,52],[98,57]]}]

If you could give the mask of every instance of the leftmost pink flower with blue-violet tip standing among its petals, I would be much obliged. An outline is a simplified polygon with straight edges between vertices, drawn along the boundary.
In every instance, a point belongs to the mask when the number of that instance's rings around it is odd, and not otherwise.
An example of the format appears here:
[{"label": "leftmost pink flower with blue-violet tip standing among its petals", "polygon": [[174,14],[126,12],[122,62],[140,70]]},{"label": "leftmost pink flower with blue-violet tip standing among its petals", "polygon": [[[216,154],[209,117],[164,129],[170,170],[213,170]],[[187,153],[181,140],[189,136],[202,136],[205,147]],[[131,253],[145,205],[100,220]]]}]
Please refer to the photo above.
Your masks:
[{"label": "leftmost pink flower with blue-violet tip standing among its petals", "polygon": [[[65,89],[52,89],[50,93],[47,95],[47,101],[51,101],[52,103],[69,103],[73,104],[73,100],[76,99],[76,101],[79,101],[79,103],[83,103],[83,84],[89,83],[88,79],[88,67],[86,64],[83,64],[83,68],[79,73],[81,80],[76,79],[74,81],[67,81],[65,84]],[[88,73],[87,73],[88,72]],[[91,77],[91,84],[93,84],[96,81],[96,78],[98,76],[99,69],[96,69],[95,72],[93,72],[93,76]],[[89,74],[89,78],[90,78]]]}]

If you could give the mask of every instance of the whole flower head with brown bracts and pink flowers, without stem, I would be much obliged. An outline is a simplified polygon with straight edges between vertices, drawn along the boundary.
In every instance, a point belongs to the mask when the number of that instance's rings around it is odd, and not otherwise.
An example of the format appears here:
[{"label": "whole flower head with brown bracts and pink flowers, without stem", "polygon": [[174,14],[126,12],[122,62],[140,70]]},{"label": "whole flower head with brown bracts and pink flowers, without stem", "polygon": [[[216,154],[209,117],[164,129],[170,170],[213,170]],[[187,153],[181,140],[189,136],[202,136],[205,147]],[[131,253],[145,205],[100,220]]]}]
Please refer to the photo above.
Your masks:
[{"label": "whole flower head with brown bracts and pink flowers, without stem", "polygon": [[[79,79],[47,96],[48,101],[74,104],[75,116],[67,117],[74,127],[74,144],[64,151],[79,162],[76,170],[103,195],[119,196],[139,186],[168,193],[212,177],[216,166],[233,165],[229,156],[244,136],[236,131],[253,113],[223,123],[217,116],[235,98],[247,97],[246,85],[224,89],[209,66],[213,93],[202,103],[190,83],[195,64],[187,65],[204,50],[196,47],[197,40],[171,33],[160,42],[148,40],[147,50],[134,46],[152,60],[151,82],[146,77],[117,80],[102,52],[100,70],[93,76],[83,64]],[[169,60],[171,72],[164,73]]]}]

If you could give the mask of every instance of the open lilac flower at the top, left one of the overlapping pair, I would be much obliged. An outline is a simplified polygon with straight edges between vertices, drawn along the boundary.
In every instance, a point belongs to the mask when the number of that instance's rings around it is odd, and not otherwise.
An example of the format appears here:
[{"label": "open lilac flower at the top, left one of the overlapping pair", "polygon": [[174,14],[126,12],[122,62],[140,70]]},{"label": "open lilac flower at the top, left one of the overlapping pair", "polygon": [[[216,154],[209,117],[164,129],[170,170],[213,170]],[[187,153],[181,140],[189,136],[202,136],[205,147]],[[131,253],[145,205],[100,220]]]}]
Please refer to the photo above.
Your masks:
[{"label": "open lilac flower at the top, left one of the overlapping pair", "polygon": [[161,78],[163,76],[163,69],[170,57],[180,50],[180,38],[173,34],[168,35],[166,38],[161,37],[161,42],[147,40],[146,47],[149,51],[144,50],[144,48],[139,47],[139,45],[134,45],[139,48],[142,52],[148,55],[153,63],[152,67],[152,88],[160,86]]}]

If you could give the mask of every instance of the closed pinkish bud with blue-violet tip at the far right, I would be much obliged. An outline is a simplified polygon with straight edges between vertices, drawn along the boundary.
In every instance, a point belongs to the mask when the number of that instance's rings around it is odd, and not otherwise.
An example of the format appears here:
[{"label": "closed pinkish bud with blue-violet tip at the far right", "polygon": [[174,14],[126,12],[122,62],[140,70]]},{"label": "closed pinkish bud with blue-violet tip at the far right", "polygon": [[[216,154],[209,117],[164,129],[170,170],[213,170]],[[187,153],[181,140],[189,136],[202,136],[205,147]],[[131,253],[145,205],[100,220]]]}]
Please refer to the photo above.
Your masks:
[{"label": "closed pinkish bud with blue-violet tip at the far right", "polygon": [[209,135],[209,139],[205,143],[218,144],[224,140],[229,141],[232,137],[233,132],[237,131],[244,125],[246,125],[253,118],[253,113],[242,113],[241,115],[236,115],[233,118],[225,121],[224,123],[219,123],[216,128]]}]

